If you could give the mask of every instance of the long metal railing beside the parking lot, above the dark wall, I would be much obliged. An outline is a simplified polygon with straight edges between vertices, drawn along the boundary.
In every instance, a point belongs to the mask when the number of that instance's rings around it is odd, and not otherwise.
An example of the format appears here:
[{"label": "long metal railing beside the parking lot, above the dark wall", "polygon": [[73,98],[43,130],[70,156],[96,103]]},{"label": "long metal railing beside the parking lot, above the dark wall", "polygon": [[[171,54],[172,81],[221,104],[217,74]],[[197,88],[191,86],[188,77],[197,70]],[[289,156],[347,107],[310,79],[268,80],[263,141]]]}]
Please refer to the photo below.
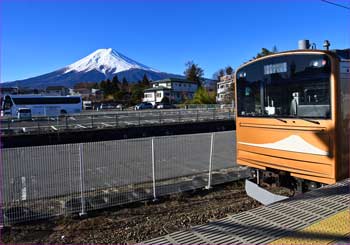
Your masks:
[{"label": "long metal railing beside the parking lot, above the dark wall", "polygon": [[33,117],[31,120],[2,118],[0,123],[1,134],[6,135],[230,119],[234,119],[230,109],[176,109],[92,112],[58,117]]}]

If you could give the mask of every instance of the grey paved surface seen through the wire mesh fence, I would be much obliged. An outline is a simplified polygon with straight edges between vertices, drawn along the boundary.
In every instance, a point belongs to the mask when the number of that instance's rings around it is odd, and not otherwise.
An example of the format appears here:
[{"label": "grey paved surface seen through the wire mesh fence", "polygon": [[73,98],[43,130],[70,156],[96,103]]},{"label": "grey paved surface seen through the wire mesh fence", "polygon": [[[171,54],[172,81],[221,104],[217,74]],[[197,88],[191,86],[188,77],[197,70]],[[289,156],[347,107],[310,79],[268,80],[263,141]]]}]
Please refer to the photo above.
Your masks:
[{"label": "grey paved surface seen through the wire mesh fence", "polygon": [[[156,180],[208,171],[210,139],[154,138]],[[235,144],[234,131],[215,133],[213,169],[236,166]],[[81,168],[85,191],[151,182],[152,138],[3,149],[2,166],[5,202],[79,193]]]}]

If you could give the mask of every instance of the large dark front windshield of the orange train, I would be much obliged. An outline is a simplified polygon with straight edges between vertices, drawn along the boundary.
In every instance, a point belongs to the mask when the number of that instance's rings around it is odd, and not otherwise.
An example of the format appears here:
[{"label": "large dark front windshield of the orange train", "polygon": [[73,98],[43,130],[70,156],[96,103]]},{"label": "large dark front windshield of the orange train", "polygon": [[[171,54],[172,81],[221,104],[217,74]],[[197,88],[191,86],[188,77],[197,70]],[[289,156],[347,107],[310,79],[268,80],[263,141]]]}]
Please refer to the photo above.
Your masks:
[{"label": "large dark front windshield of the orange train", "polygon": [[331,117],[331,61],[326,55],[266,58],[236,75],[240,117]]}]

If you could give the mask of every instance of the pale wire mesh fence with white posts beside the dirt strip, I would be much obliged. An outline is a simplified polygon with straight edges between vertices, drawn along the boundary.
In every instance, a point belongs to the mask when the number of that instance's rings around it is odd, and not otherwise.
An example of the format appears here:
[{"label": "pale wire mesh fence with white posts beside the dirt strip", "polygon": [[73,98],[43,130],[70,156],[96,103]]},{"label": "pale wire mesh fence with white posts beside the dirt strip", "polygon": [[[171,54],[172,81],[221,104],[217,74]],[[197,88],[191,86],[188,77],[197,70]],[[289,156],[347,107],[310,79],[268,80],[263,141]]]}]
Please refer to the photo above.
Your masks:
[{"label": "pale wire mesh fence with white posts beside the dirt strip", "polygon": [[1,223],[85,214],[245,177],[234,133],[3,149]]}]

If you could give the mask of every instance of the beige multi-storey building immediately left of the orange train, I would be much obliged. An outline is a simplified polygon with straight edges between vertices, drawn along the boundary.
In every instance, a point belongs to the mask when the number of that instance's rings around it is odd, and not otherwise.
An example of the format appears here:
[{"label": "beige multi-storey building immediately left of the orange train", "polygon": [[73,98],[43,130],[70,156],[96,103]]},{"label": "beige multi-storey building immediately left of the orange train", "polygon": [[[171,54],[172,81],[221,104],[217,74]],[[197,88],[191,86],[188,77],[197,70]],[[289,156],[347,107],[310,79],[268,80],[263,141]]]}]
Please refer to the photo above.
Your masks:
[{"label": "beige multi-storey building immediately left of the orange train", "polygon": [[234,98],[234,75],[225,75],[220,77],[217,83],[216,103],[231,104]]}]

